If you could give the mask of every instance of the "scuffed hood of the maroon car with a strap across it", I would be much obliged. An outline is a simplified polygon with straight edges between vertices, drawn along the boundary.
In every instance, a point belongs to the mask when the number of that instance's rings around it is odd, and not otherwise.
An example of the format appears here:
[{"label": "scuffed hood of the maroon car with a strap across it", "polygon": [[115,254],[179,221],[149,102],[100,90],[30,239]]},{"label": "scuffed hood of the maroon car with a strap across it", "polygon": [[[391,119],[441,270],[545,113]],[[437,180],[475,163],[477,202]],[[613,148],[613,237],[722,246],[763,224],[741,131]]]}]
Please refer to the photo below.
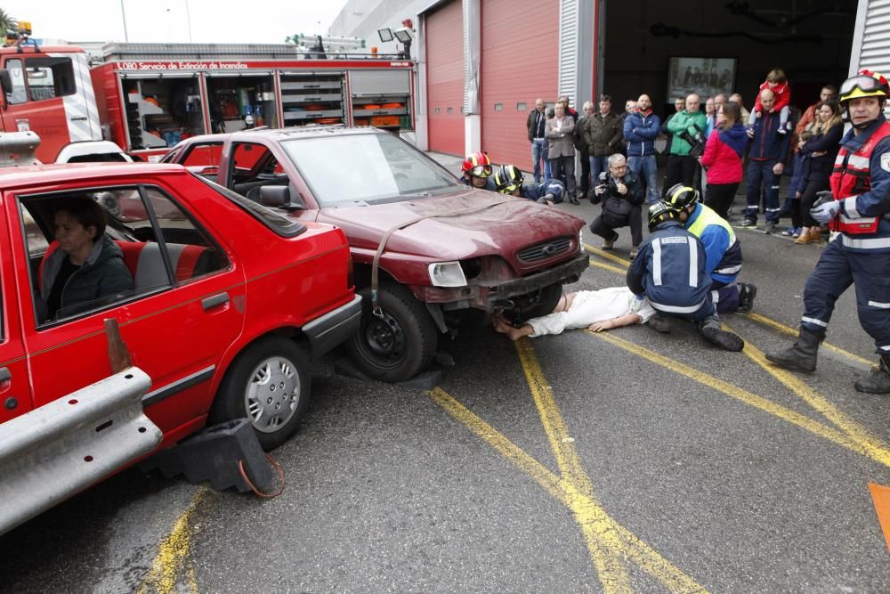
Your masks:
[{"label": "scuffed hood of the maroon car with a strap across it", "polygon": [[[411,221],[429,216],[414,224]],[[392,233],[387,252],[443,260],[508,254],[561,236],[578,236],[584,221],[558,208],[490,191],[468,190],[434,198],[368,206],[326,207],[319,222],[343,228],[353,248],[376,250]]]}]

